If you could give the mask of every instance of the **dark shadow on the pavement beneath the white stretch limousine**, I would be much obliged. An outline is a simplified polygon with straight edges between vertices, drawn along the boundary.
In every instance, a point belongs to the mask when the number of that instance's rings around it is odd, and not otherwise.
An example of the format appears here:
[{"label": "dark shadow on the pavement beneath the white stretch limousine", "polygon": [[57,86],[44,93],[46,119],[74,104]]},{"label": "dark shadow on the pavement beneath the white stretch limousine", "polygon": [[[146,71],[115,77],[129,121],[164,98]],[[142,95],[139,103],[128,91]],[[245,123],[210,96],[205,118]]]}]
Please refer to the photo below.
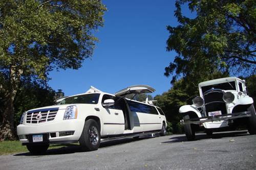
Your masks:
[{"label": "dark shadow on the pavement beneath the white stretch limousine", "polygon": [[[99,148],[112,147],[114,145],[121,145],[125,143],[130,143],[138,140],[148,139],[149,137],[140,137],[140,138],[124,138],[124,139],[116,139],[111,141],[103,141],[100,143]],[[42,155],[32,155],[30,152],[14,154],[13,156],[32,156],[32,157],[41,157],[46,155],[63,155],[63,154],[73,154],[84,152],[81,150],[79,144],[58,144],[55,146],[63,146],[57,149],[48,149],[45,154]]]}]

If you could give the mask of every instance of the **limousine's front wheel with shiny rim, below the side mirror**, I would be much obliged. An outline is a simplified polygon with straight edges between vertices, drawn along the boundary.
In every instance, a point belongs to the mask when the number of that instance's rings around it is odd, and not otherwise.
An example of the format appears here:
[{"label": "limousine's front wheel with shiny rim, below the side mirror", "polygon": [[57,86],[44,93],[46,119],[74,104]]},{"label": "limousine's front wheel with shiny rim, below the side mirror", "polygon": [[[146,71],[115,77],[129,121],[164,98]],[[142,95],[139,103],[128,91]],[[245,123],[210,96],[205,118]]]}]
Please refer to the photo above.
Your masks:
[{"label": "limousine's front wheel with shiny rim, below the side mirror", "polygon": [[100,129],[94,119],[88,119],[84,123],[79,143],[83,151],[95,151],[99,148]]}]

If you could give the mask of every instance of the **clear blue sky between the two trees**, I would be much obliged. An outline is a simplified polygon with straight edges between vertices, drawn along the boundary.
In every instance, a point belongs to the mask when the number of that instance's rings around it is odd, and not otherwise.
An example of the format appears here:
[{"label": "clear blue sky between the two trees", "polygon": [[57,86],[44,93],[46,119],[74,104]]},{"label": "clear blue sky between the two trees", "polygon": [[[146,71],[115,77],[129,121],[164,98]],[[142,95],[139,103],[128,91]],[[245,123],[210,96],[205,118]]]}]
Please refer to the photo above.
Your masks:
[{"label": "clear blue sky between the two trees", "polygon": [[[164,68],[176,56],[166,52],[166,26],[177,26],[175,1],[103,1],[108,11],[94,55],[78,70],[51,71],[49,86],[65,95],[86,92],[90,86],[114,93],[136,84],[150,85],[162,94],[170,85]],[[186,15],[191,15],[185,10]]]}]

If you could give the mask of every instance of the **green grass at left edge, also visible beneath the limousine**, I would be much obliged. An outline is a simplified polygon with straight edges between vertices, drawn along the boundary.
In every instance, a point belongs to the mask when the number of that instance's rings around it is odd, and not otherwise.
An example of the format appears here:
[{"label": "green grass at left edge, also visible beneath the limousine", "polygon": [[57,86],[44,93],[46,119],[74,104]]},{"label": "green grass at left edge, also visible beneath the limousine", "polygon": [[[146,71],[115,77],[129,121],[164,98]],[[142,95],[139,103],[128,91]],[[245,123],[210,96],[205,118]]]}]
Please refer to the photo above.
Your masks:
[{"label": "green grass at left edge, also visible beneath the limousine", "polygon": [[[78,144],[78,143],[77,143]],[[62,147],[68,147],[69,144],[62,145],[62,144],[51,144],[49,149],[57,149]],[[29,152],[25,145],[18,140],[15,141],[2,141],[0,142],[0,155],[7,155],[7,154],[15,154],[15,153],[23,153]]]}]

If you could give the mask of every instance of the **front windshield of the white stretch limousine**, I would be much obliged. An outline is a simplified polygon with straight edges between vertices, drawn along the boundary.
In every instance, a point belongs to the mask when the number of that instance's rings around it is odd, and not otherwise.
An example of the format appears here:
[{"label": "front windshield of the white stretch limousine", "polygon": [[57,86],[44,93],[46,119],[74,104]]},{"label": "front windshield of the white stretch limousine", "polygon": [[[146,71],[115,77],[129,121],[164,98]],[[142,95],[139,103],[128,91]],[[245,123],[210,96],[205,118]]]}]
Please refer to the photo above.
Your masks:
[{"label": "front windshield of the white stretch limousine", "polygon": [[99,93],[75,95],[64,99],[59,105],[66,104],[97,104],[99,101]]}]

